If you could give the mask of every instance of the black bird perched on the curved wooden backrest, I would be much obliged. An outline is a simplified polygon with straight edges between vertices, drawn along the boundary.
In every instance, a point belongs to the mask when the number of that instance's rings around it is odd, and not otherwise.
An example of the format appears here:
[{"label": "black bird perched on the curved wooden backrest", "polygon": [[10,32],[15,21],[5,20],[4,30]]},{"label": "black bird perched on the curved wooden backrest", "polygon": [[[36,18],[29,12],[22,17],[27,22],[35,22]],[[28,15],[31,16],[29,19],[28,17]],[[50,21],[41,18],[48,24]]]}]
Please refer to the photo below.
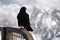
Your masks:
[{"label": "black bird perched on the curved wooden backrest", "polygon": [[19,27],[23,26],[27,29],[27,31],[33,31],[33,29],[30,26],[29,15],[26,13],[25,7],[22,7],[20,9],[20,12],[17,15],[17,19]]}]

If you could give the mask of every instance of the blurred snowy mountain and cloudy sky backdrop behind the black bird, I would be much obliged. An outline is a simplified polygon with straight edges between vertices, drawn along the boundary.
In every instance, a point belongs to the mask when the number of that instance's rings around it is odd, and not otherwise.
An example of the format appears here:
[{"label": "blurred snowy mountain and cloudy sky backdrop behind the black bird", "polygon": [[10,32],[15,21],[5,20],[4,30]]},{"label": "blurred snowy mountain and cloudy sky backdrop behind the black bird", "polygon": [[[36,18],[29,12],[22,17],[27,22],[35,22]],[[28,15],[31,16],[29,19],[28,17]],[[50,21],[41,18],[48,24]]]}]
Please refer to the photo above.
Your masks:
[{"label": "blurred snowy mountain and cloudy sky backdrop behind the black bird", "polygon": [[60,40],[60,0],[0,0],[0,27],[18,27],[22,6],[27,8],[34,40]]}]

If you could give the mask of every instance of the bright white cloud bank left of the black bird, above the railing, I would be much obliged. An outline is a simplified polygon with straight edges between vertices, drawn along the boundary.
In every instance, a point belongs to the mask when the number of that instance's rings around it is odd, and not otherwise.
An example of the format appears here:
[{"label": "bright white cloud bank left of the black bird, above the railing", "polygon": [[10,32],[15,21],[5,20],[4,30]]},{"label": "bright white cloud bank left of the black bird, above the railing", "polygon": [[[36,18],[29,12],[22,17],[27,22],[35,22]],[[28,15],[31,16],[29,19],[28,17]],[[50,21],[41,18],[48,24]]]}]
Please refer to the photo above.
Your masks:
[{"label": "bright white cloud bank left of the black bird, above the railing", "polygon": [[[20,6],[17,4],[10,5],[0,5],[0,23],[3,23],[2,20],[8,20],[4,25],[1,26],[17,26],[17,14],[19,12]],[[8,24],[9,25],[8,25]]]}]

